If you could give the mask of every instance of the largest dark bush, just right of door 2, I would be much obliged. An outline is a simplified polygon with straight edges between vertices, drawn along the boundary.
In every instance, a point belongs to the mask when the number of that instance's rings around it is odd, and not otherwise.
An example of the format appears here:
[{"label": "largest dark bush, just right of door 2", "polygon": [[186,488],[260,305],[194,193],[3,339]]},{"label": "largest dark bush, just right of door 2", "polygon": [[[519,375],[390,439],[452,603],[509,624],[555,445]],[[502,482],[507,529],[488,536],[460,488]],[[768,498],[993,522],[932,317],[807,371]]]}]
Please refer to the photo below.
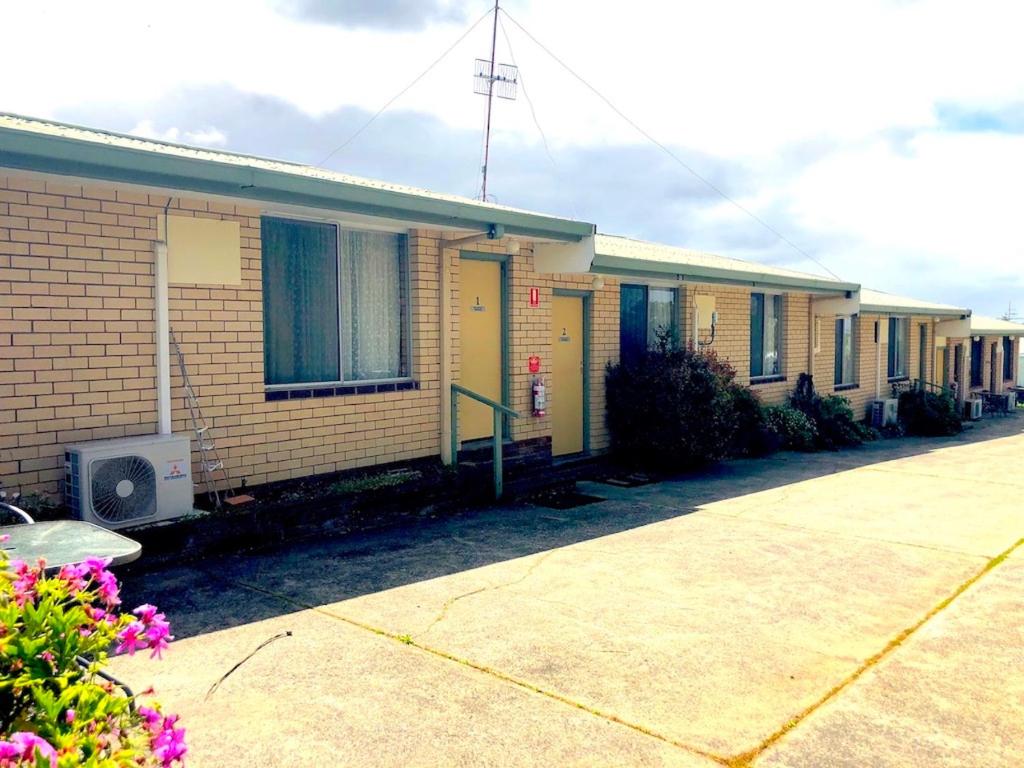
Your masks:
[{"label": "largest dark bush, just right of door 2", "polygon": [[636,359],[609,364],[607,423],[614,458],[667,472],[724,459],[738,430],[735,375],[714,353],[674,349],[667,339]]}]

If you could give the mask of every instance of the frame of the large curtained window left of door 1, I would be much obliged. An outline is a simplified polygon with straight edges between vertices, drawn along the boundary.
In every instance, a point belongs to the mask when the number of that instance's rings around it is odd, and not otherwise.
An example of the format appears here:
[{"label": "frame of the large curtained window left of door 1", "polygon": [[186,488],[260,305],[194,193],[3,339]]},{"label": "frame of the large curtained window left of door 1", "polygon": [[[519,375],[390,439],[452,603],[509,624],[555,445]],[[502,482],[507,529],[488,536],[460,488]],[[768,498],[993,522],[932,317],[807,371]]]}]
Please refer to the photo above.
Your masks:
[{"label": "frame of the large curtained window left of door 1", "polygon": [[[413,345],[413,284],[412,284],[412,256],[409,247],[409,230],[390,227],[373,227],[360,225],[357,223],[347,222],[342,219],[328,218],[323,216],[305,216],[301,214],[295,214],[291,212],[279,212],[279,211],[264,211],[260,214],[260,222],[263,219],[281,219],[284,221],[295,221],[301,223],[309,224],[330,224],[335,228],[335,263],[337,265],[337,281],[338,284],[335,286],[335,293],[338,297],[338,376],[337,380],[331,381],[304,381],[295,382],[289,384],[268,384],[263,382],[263,389],[266,392],[282,392],[289,391],[293,389],[319,389],[325,387],[372,387],[379,384],[401,384],[406,382],[414,382],[416,380],[416,369],[414,366],[414,345]],[[345,334],[343,333],[344,326],[342,323],[342,261],[341,261],[341,248],[342,248],[342,238],[341,233],[344,230],[357,231],[357,232],[377,232],[386,234],[396,234],[399,237],[399,243],[401,244],[401,254],[399,259],[403,260],[403,265],[399,264],[399,273],[401,276],[399,280],[401,284],[399,285],[399,296],[406,296],[404,302],[404,316],[400,317],[399,325],[402,333],[402,341],[400,347],[402,348],[402,354],[408,361],[409,372],[404,376],[396,376],[382,379],[345,379],[344,378],[344,360],[345,352],[347,350],[345,343]],[[263,241],[260,240],[260,263],[263,260]],[[260,294],[262,296],[265,290],[263,285],[262,274],[260,275]],[[399,306],[399,312],[402,307]],[[263,310],[265,311],[265,309]],[[263,323],[266,323],[266,317],[263,317]],[[266,371],[266,338],[263,339],[263,365],[264,365],[264,377]]]}]

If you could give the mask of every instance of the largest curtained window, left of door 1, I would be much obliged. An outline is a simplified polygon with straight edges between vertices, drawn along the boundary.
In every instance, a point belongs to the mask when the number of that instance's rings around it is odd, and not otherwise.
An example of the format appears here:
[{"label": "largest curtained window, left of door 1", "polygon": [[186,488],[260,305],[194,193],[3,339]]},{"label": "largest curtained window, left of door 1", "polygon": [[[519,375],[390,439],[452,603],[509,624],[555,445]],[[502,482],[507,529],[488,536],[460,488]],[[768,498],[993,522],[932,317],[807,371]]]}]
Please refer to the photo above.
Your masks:
[{"label": "largest curtained window, left of door 1", "polygon": [[406,238],[263,218],[268,385],[407,378]]}]

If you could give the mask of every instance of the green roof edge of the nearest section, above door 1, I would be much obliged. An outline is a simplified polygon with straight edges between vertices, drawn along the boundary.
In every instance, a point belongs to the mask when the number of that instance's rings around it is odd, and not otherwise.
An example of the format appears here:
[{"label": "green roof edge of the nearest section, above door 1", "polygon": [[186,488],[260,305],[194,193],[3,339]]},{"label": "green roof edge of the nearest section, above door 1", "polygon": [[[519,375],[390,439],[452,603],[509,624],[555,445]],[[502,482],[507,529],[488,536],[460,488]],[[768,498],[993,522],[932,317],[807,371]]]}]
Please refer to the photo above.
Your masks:
[{"label": "green roof edge of the nearest section, above door 1", "polygon": [[436,200],[413,193],[2,126],[0,167],[463,229],[489,229],[498,225],[504,227],[506,234],[527,238],[575,242],[596,231],[594,224],[582,221],[489,208],[469,201]]}]

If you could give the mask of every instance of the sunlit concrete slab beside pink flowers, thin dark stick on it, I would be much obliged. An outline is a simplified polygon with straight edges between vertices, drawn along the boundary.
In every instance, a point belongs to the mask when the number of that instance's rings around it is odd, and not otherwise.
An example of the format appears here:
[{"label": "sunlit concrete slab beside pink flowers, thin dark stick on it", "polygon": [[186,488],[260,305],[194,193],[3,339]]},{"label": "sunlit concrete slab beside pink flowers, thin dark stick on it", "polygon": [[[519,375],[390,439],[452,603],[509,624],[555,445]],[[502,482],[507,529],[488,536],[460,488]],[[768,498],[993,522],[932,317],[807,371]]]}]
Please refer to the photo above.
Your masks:
[{"label": "sunlit concrete slab beside pink flowers, thin dark stick on it", "polygon": [[[264,640],[207,698],[211,687]],[[713,768],[626,726],[395,640],[301,611],[120,657],[181,715],[195,768],[593,766]]]}]

